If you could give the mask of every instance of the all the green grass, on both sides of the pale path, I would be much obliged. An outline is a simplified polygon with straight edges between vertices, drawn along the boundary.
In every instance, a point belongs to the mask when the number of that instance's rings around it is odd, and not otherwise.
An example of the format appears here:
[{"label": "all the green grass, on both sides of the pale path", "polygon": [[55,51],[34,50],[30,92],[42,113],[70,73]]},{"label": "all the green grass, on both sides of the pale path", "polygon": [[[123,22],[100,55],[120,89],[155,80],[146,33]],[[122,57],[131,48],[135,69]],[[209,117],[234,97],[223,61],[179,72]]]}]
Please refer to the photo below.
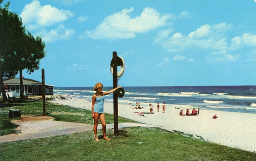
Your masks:
[{"label": "all the green grass, on both sides of the pale path", "polygon": [[[18,106],[12,107],[17,109]],[[8,117],[9,108],[0,108],[0,131],[2,127],[14,129]],[[22,114],[41,115],[41,102],[25,102],[20,106]],[[91,112],[68,106],[48,104],[47,113],[60,121],[92,123]],[[5,120],[5,121],[2,121]],[[6,121],[7,120],[7,121]],[[113,115],[106,117],[113,123]],[[119,122],[132,122],[119,119]],[[113,129],[107,130],[111,141],[93,140],[93,131],[54,136],[48,138],[0,143],[0,160],[111,160],[111,161],[255,161],[256,153],[209,143],[193,137],[185,137],[180,132],[170,132],[159,128],[129,127],[119,136]],[[2,133],[2,132],[1,132]],[[13,133],[13,130],[9,130]],[[101,131],[98,131],[101,134]],[[100,136],[99,138],[101,138]]]}]

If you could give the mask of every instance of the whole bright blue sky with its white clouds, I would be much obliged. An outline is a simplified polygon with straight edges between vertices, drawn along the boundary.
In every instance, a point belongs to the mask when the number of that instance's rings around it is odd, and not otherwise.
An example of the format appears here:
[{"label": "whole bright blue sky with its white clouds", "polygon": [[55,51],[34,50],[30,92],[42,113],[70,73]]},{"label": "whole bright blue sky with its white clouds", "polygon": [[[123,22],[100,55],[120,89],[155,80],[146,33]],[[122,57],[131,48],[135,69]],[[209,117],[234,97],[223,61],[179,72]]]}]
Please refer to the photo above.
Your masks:
[{"label": "whole bright blue sky with its white clouds", "polygon": [[[2,6],[8,2],[4,0]],[[46,43],[25,78],[56,87],[256,85],[254,0],[11,0],[26,29]]]}]

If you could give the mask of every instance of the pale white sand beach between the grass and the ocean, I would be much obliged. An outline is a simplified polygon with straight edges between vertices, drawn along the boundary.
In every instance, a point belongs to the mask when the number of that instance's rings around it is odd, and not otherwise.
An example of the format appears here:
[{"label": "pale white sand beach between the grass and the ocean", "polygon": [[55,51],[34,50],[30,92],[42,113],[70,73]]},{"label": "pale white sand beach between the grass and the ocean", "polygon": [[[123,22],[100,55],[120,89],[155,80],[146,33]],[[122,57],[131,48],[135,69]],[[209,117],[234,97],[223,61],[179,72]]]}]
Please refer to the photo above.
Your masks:
[{"label": "pale white sand beach between the grass and the ocean", "polygon": [[[109,101],[109,102],[106,102]],[[113,103],[106,100],[104,112],[113,114]],[[56,99],[53,103],[91,110],[91,101],[69,97],[66,100]],[[150,112],[148,106],[133,109],[135,106],[119,104],[118,115],[141,123],[157,125],[163,129],[177,130],[194,136],[201,136],[208,142],[256,152],[256,114],[200,110],[197,116],[179,116],[180,109],[167,106],[165,113],[162,108],[157,112],[153,104],[154,114],[137,114]],[[186,109],[184,108],[185,112]],[[189,109],[191,112],[192,109]],[[184,113],[183,112],[183,113]],[[217,119],[212,119],[213,115]]]}]

